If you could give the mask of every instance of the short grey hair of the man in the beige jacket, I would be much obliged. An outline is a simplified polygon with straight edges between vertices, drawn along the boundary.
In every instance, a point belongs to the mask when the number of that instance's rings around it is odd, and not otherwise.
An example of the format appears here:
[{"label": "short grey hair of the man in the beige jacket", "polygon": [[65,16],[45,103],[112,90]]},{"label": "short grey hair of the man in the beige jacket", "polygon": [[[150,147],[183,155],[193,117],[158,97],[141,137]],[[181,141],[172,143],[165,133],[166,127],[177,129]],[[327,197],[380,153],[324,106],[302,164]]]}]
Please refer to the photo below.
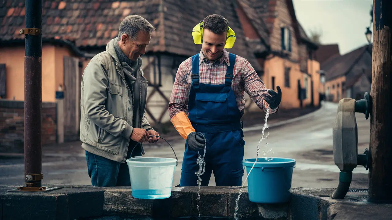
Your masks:
[{"label": "short grey hair of the man in the beige jacket", "polygon": [[123,34],[128,34],[131,40],[136,40],[139,31],[151,34],[151,32],[155,31],[155,27],[142,16],[126,16],[120,23],[120,28],[118,29],[118,40],[121,40],[121,36]]}]

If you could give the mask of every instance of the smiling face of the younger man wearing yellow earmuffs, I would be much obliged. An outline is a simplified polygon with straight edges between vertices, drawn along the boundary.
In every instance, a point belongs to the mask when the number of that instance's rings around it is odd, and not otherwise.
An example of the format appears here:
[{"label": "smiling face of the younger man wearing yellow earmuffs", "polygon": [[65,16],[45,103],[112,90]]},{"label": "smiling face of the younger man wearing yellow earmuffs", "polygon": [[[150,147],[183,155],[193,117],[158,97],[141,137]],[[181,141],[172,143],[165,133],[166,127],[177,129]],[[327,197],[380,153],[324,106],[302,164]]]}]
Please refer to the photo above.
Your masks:
[{"label": "smiling face of the younger man wearing yellow earmuffs", "polygon": [[225,49],[226,32],[215,34],[214,32],[203,29],[203,43],[201,44],[201,51],[207,60],[218,60]]}]

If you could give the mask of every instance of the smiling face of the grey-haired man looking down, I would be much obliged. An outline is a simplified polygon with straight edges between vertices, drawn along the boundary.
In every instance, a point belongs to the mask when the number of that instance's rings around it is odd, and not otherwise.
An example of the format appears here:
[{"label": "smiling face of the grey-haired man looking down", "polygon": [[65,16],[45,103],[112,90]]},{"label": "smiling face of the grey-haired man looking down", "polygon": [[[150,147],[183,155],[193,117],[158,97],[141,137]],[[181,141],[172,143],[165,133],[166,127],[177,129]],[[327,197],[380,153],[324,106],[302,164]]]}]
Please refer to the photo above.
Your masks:
[{"label": "smiling face of the grey-haired man looking down", "polygon": [[139,31],[136,40],[132,40],[127,34],[123,34],[118,45],[129,60],[136,61],[140,55],[145,54],[150,39],[151,35],[149,33]]}]

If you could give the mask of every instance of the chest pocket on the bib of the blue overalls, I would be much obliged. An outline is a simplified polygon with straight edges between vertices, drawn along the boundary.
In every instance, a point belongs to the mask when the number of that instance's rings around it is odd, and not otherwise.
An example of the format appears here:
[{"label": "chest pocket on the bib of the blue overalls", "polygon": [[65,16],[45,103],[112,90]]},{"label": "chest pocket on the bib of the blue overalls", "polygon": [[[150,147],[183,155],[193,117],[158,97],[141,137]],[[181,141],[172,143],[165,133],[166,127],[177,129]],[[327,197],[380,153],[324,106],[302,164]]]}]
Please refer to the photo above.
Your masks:
[{"label": "chest pocket on the bib of the blue overalls", "polygon": [[196,117],[227,119],[227,93],[196,93]]}]

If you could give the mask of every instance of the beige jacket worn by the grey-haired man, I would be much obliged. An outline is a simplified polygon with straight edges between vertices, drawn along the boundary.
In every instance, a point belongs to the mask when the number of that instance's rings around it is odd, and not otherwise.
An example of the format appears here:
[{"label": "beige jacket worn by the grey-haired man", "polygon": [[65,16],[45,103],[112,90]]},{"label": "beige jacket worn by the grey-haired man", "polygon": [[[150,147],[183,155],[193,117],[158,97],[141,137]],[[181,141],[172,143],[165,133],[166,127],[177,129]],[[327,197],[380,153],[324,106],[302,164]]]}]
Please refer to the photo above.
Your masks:
[{"label": "beige jacket worn by the grey-haired man", "polygon": [[[133,128],[151,126],[145,115],[147,79],[139,69],[134,74],[134,89],[128,87],[114,50],[115,40],[106,45],[106,51],[94,56],[83,72],[80,140],[82,147],[90,153],[123,163],[127,159]],[[138,61],[142,62],[142,59]],[[140,96],[139,106],[133,105],[132,94]],[[135,118],[134,109],[139,110]]]}]

